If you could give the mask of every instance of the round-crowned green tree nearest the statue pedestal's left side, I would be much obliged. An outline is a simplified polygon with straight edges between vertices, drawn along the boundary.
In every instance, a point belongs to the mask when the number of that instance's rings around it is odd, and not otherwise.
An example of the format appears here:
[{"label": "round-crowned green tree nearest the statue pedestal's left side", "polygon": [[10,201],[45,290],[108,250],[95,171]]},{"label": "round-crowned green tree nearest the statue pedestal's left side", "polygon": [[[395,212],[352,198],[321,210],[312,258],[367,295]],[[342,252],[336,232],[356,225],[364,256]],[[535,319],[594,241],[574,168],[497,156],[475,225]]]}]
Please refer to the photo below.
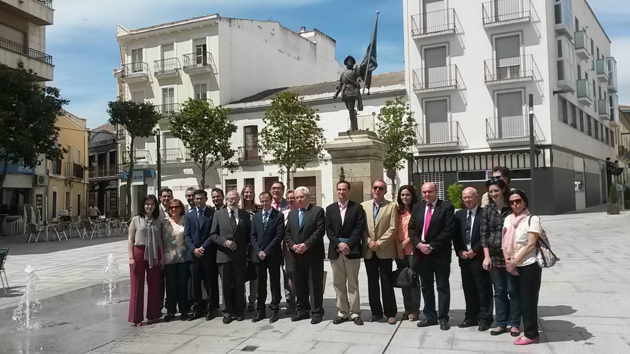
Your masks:
[{"label": "round-crowned green tree nearest the statue pedestal's left side", "polygon": [[271,162],[280,167],[278,173],[287,173],[287,189],[291,169],[305,168],[307,163],[323,158],[326,143],[317,110],[302,101],[292,91],[276,94],[265,111],[265,127],[260,132],[263,151],[273,156]]}]

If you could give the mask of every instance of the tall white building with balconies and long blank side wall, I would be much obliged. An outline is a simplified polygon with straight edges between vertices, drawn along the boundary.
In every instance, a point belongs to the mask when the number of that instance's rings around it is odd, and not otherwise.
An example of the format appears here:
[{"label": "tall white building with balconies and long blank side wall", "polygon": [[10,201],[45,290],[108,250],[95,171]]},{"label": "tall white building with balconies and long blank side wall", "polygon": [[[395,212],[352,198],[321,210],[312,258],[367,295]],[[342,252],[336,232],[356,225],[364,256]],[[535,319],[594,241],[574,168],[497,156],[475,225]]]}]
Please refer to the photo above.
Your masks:
[{"label": "tall white building with balconies and long blank side wall", "polygon": [[[304,27],[295,32],[276,21],[212,14],[136,30],[119,25],[117,31],[122,64],[113,75],[118,96],[149,101],[164,114],[156,127],[163,163],[161,185],[174,190],[198,186],[200,178],[183,144],[169,134],[168,115],[178,111],[183,101],[199,98],[210,105],[226,105],[266,89],[335,80],[342,69],[335,60],[335,40]],[[121,133],[119,157],[124,164],[130,140]],[[137,166],[132,171],[135,210],[144,195],[156,193],[156,137],[135,139],[132,149]],[[209,188],[223,185],[219,173],[209,170]],[[122,180],[120,197],[124,198],[126,188]],[[126,208],[123,200],[119,205]]]}]

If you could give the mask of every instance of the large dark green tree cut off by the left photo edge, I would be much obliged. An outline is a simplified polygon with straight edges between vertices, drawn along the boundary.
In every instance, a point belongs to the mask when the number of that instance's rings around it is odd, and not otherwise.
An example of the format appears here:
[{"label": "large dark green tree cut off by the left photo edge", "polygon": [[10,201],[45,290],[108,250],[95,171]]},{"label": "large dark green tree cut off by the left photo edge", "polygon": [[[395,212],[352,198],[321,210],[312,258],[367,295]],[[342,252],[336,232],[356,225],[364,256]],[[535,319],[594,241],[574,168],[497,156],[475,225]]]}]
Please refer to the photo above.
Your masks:
[{"label": "large dark green tree cut off by the left photo edge", "polygon": [[60,128],[55,127],[61,109],[69,103],[60,91],[41,86],[32,69],[23,63],[17,69],[0,64],[0,188],[6,180],[9,163],[35,167],[42,157],[59,160],[67,151],[56,141]]}]

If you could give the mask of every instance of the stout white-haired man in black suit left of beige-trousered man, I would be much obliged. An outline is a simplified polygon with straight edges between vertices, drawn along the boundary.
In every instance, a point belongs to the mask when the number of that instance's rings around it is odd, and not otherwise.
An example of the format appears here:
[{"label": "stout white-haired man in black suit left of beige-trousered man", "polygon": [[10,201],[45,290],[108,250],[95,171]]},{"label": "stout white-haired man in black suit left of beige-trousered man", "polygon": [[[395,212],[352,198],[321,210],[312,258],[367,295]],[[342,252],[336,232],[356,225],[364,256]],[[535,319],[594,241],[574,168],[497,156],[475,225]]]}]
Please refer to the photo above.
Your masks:
[{"label": "stout white-haired man in black suit left of beige-trousered man", "polygon": [[309,275],[312,278],[312,324],[321,322],[324,316],[324,233],[326,220],[324,209],[311,205],[311,192],[300,186],[295,188],[297,209],[289,212],[284,239],[293,255],[297,316],[291,321],[309,318]]}]

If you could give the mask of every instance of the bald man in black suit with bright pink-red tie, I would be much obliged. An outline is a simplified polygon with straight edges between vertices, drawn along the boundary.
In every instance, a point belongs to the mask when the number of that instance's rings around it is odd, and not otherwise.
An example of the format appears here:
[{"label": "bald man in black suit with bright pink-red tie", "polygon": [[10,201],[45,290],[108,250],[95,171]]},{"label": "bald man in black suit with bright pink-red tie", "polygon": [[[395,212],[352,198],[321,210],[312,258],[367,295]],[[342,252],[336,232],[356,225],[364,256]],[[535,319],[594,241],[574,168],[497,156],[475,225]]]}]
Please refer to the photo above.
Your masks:
[{"label": "bald man in black suit with bright pink-red tie", "polygon": [[[455,209],[449,202],[438,200],[435,183],[422,186],[423,202],[416,203],[409,221],[409,237],[415,246],[414,256],[418,261],[420,288],[425,299],[425,319],[418,327],[438,324],[447,331],[450,307],[450,243],[455,228]],[[433,277],[437,285],[438,310],[435,312]]]}]

